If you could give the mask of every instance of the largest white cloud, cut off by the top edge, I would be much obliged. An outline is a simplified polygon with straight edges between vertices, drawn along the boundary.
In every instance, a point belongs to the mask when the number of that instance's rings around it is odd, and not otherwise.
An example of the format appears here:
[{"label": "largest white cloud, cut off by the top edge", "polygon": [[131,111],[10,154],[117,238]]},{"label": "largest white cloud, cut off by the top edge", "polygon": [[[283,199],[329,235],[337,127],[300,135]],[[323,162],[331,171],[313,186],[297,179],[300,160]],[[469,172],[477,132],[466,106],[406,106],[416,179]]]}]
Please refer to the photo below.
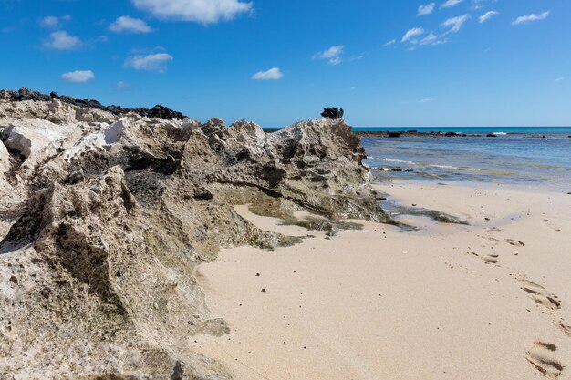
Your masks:
[{"label": "largest white cloud, cut off by the top edge", "polygon": [[239,0],[131,0],[140,10],[162,20],[215,24],[252,10],[253,3]]}]

